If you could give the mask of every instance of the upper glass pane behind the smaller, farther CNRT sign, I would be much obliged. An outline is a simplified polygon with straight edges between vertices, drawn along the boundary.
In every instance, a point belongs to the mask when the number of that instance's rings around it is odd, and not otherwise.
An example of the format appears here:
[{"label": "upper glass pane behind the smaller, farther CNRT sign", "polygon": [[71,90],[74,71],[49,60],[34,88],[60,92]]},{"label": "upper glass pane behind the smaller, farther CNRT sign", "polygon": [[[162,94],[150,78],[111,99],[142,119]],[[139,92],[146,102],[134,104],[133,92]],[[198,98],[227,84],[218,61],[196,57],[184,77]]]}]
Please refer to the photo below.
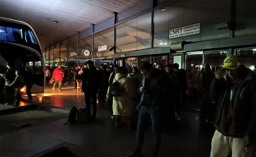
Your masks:
[{"label": "upper glass pane behind the smaller, farther CNRT sign", "polygon": [[111,46],[114,46],[113,27],[103,30],[101,32],[98,32],[94,34],[93,37],[94,37],[93,58],[106,57],[114,53],[114,51],[108,51],[108,50],[98,52],[99,46],[107,45],[107,49],[109,49],[109,47]]}]

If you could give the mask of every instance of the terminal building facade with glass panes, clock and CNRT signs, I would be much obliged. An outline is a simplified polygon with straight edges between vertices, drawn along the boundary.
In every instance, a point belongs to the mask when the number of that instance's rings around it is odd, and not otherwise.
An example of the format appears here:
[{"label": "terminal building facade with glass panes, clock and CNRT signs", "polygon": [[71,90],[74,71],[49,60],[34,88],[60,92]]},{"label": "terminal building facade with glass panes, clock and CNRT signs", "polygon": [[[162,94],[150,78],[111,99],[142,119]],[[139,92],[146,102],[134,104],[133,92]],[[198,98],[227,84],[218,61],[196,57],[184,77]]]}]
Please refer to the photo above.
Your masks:
[{"label": "terminal building facade with glass panes, clock and CNRT signs", "polygon": [[193,69],[201,70],[205,61],[218,67],[236,55],[255,72],[255,6],[256,1],[242,0],[148,0],[44,49],[45,65],[178,63],[193,98]]}]

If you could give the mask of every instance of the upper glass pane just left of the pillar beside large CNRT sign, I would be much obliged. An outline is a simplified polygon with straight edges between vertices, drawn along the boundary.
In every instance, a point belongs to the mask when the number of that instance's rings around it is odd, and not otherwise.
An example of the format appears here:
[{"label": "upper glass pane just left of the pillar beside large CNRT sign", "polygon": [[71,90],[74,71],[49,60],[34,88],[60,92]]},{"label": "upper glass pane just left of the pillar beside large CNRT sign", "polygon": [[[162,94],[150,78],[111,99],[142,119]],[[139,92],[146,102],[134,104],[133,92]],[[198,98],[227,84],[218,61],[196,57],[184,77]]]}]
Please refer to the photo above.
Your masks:
[{"label": "upper glass pane just left of the pillar beside large CNRT sign", "polygon": [[137,48],[151,47],[151,12],[137,17]]}]

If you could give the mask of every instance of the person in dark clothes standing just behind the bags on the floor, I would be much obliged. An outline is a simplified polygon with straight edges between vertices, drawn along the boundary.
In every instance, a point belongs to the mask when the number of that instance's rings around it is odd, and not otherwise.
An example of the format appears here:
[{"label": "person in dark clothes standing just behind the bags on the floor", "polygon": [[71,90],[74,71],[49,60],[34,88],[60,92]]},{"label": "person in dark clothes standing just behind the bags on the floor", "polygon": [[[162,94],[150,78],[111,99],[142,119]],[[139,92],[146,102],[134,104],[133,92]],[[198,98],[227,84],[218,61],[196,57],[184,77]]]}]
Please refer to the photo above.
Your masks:
[{"label": "person in dark clothes standing just behind the bags on the floor", "polygon": [[91,60],[87,62],[87,69],[84,70],[84,72],[79,71],[78,74],[78,78],[81,78],[83,82],[82,89],[85,94],[85,106],[91,111],[92,103],[92,119],[95,119],[97,111],[97,91],[100,85],[101,75]]}]

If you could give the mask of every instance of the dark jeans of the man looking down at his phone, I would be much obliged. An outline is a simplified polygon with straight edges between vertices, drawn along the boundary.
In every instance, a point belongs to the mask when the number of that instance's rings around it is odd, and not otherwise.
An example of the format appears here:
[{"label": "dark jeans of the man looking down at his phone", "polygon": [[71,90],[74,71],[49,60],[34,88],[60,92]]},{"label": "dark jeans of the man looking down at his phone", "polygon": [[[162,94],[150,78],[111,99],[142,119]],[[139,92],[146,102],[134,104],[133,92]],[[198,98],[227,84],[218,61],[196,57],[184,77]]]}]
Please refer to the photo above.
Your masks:
[{"label": "dark jeans of the man looking down at his phone", "polygon": [[152,123],[152,133],[154,146],[152,153],[157,155],[160,142],[161,142],[161,121],[162,121],[162,111],[160,109],[153,109],[151,106],[141,106],[139,111],[139,120],[137,126],[137,136],[136,136],[136,150],[140,151],[142,144],[144,142],[144,134],[148,124],[149,117]]}]

